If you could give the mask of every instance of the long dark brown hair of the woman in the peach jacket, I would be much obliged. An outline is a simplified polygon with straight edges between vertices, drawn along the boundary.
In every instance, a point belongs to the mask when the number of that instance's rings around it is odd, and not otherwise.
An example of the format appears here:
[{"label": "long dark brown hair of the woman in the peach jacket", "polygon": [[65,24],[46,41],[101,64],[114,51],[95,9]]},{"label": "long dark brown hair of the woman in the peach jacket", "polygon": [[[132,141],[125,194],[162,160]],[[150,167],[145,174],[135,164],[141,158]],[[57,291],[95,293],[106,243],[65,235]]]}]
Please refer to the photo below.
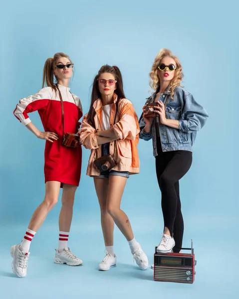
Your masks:
[{"label": "long dark brown hair of the woman in the peach jacket", "polygon": [[113,66],[110,66],[108,64],[103,65],[100,68],[98,74],[95,76],[94,81],[93,81],[90,109],[89,109],[89,112],[88,112],[88,115],[87,115],[87,122],[93,128],[95,128],[94,116],[95,116],[95,113],[96,113],[95,110],[94,110],[93,104],[96,100],[101,98],[101,94],[100,94],[100,91],[99,91],[98,80],[97,79],[103,73],[110,73],[110,74],[114,75],[115,80],[117,81],[116,82],[116,90],[114,91],[115,94],[118,97],[117,102],[116,102],[116,113],[118,111],[119,100],[120,99],[125,99],[125,94],[124,94],[124,90],[123,90],[123,80],[122,80],[122,75],[121,75],[121,72],[120,72],[119,68],[115,65],[113,65]]}]

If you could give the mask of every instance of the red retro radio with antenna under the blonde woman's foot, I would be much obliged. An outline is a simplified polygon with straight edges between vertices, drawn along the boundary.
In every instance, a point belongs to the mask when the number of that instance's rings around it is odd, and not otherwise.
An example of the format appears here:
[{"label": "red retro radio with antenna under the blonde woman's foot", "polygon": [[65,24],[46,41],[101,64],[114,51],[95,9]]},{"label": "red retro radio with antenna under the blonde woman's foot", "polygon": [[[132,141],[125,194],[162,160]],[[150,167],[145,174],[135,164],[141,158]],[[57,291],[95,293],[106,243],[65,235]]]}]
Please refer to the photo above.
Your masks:
[{"label": "red retro radio with antenna under the blonde woman's foot", "polygon": [[192,284],[196,272],[194,268],[197,264],[194,256],[193,241],[191,248],[181,248],[181,250],[191,250],[190,253],[159,253],[157,247],[154,254],[154,280],[158,282],[173,282]]}]

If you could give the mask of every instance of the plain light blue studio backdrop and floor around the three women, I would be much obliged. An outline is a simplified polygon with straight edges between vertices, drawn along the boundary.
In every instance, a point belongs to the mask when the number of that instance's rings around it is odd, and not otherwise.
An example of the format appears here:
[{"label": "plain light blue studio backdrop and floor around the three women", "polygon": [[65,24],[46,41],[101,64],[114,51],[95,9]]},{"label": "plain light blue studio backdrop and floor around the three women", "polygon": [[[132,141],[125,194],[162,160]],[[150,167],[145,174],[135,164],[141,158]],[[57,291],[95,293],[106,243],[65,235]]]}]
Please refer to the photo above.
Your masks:
[{"label": "plain light blue studio backdrop and floor around the three women", "polygon": [[[1,4],[0,19],[0,298],[229,298],[238,275],[238,16],[236,1],[30,1]],[[128,244],[115,228],[117,267],[97,271],[104,257],[100,210],[93,180],[85,175],[89,150],[83,149],[82,177],[76,192],[69,238],[82,267],[53,264],[58,244],[60,200],[31,244],[28,275],[15,278],[9,249],[23,238],[34,209],[44,197],[44,144],[13,116],[20,98],[42,84],[44,62],[55,52],[75,64],[71,91],[90,103],[93,78],[103,64],[122,71],[125,94],[140,116],[150,95],[149,72],[160,48],[176,54],[183,85],[209,113],[198,133],[193,165],[181,180],[185,220],[183,245],[194,241],[193,285],[153,281],[153,271],[133,264]],[[37,112],[30,118],[42,129]],[[141,172],[131,176],[122,209],[136,239],[153,263],[161,240],[161,194],[152,142],[139,142]],[[237,194],[238,196],[238,194]]]}]

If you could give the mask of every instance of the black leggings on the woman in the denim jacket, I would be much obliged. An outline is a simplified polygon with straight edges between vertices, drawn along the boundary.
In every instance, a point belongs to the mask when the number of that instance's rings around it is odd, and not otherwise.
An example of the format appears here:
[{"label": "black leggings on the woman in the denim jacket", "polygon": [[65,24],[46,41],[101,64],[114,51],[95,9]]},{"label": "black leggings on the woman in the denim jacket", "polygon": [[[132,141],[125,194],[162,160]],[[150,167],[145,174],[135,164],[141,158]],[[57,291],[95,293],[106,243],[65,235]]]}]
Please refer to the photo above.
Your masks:
[{"label": "black leggings on the woman in the denim jacket", "polygon": [[192,152],[173,150],[163,152],[160,139],[157,138],[156,173],[162,194],[164,227],[167,227],[175,240],[176,248],[182,247],[184,220],[179,196],[179,180],[188,172],[192,164]]}]

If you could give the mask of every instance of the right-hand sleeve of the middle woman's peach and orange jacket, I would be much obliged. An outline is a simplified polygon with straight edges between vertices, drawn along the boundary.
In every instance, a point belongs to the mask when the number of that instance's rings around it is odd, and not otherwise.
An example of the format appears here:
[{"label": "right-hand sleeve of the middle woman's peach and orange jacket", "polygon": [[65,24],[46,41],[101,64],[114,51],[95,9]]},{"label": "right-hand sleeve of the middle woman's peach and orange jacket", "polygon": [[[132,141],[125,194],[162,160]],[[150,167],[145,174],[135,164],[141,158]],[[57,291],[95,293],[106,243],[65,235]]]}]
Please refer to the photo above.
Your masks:
[{"label": "right-hand sleeve of the middle woman's peach and orange jacket", "polygon": [[120,140],[135,140],[139,134],[139,123],[133,104],[129,100],[119,103],[120,120],[114,124],[114,132]]}]

